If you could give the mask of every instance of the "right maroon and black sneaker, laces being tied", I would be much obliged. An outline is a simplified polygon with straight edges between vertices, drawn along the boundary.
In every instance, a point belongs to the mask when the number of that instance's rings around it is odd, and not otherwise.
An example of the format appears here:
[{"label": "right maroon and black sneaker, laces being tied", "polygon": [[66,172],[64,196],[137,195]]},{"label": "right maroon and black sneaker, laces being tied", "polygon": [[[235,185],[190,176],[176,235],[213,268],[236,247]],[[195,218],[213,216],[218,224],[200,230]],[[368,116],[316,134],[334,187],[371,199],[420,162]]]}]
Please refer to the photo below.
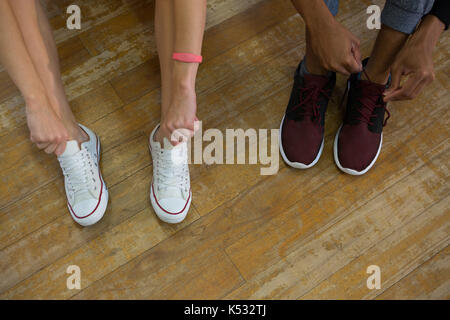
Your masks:
[{"label": "right maroon and black sneaker, laces being tied", "polygon": [[385,88],[385,85],[359,80],[358,74],[348,80],[344,123],[334,139],[334,161],[345,173],[366,173],[380,154],[383,127],[390,117],[383,101]]}]

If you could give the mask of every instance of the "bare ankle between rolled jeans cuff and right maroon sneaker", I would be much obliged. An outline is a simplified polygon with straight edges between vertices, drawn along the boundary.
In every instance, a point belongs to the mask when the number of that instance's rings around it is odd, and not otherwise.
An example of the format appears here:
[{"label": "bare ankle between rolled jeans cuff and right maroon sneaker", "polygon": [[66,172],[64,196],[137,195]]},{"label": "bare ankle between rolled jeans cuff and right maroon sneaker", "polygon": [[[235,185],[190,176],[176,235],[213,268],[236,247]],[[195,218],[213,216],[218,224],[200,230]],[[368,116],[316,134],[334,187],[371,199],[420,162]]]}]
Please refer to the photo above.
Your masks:
[{"label": "bare ankle between rolled jeans cuff and right maroon sneaker", "polygon": [[408,36],[406,33],[382,25],[366,66],[366,72],[371,81],[379,84],[387,82],[391,64]]}]

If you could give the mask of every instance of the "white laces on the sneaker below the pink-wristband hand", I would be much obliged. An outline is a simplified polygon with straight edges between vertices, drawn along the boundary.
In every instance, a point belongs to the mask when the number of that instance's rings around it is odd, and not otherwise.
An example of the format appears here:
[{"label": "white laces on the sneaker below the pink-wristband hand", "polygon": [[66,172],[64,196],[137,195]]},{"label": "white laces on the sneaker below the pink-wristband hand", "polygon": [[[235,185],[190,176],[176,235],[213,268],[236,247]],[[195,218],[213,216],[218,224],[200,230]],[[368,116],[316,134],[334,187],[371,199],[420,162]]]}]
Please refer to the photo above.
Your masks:
[{"label": "white laces on the sneaker below the pink-wristband hand", "polygon": [[[176,154],[174,154],[176,152]],[[187,159],[184,159],[184,151],[180,148],[159,151],[157,157],[156,178],[158,179],[158,190],[168,191],[169,189],[181,189],[184,192],[189,191],[189,167]],[[174,161],[180,160],[179,163]]]}]

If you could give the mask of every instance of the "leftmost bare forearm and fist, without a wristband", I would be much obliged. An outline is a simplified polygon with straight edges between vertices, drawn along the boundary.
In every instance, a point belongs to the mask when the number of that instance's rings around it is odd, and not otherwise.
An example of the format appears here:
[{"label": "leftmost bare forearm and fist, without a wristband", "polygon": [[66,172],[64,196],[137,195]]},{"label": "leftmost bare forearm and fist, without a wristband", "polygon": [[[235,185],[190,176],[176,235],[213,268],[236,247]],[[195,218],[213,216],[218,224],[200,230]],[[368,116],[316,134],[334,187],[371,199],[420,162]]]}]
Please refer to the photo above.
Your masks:
[{"label": "leftmost bare forearm and fist, without a wristband", "polygon": [[62,153],[68,132],[50,105],[9,1],[0,1],[0,62],[25,99],[31,140],[47,153]]}]

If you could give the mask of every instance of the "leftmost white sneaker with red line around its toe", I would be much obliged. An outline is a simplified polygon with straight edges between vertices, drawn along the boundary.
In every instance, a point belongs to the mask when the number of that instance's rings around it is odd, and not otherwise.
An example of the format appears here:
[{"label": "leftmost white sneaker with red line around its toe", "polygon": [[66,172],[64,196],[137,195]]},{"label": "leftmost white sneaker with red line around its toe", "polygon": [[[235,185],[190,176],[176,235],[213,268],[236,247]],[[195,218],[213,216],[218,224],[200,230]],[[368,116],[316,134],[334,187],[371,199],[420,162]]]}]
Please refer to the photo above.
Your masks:
[{"label": "leftmost white sneaker with red line around its toe", "polygon": [[95,133],[80,125],[89,136],[81,144],[71,140],[58,157],[64,174],[67,206],[72,218],[82,226],[99,221],[108,204],[108,190],[100,173],[100,140]]}]

